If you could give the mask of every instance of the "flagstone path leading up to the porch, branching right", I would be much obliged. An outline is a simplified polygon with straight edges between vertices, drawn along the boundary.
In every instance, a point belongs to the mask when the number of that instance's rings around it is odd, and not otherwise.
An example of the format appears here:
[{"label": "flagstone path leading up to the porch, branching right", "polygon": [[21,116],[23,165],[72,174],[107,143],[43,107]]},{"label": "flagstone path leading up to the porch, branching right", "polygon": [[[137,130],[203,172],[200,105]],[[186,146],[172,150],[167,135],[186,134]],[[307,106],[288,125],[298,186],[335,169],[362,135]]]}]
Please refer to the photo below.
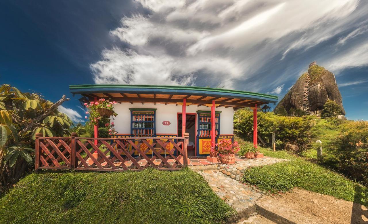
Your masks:
[{"label": "flagstone path leading up to the porch, branching right", "polygon": [[[261,159],[237,159],[234,165],[213,164],[206,166],[190,166],[190,168],[201,174],[212,190],[237,211],[238,218],[242,218],[256,213],[255,201],[262,196],[262,193],[251,186],[237,181],[243,176],[241,171],[244,172],[245,169],[250,167],[269,165],[282,161],[287,160],[271,157]],[[222,172],[220,172],[220,169],[223,169]]]}]

